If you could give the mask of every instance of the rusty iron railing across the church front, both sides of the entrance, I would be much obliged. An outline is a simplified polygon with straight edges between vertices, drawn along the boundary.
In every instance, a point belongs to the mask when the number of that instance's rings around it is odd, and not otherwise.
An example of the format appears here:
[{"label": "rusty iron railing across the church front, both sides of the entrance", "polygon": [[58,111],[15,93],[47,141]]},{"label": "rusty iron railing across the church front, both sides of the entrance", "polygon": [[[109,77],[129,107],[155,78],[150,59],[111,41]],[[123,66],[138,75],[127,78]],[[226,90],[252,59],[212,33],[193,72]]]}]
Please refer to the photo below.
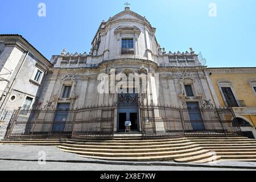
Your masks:
[{"label": "rusty iron railing across the church front, both sides of the entrance", "polygon": [[[118,108],[115,105],[77,110],[15,110],[5,138],[112,139]],[[143,139],[241,135],[240,127],[232,124],[232,109],[139,105],[138,110]]]}]

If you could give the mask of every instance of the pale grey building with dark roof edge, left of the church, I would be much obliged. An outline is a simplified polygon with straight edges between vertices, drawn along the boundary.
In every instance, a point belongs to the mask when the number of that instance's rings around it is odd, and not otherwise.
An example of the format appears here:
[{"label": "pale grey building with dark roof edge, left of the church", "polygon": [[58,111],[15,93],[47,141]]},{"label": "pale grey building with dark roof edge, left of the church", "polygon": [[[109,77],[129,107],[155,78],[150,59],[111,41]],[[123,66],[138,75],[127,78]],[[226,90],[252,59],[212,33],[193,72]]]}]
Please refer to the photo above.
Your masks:
[{"label": "pale grey building with dark roof edge, left of the church", "polygon": [[0,35],[0,138],[14,109],[31,109],[52,64],[20,35]]}]

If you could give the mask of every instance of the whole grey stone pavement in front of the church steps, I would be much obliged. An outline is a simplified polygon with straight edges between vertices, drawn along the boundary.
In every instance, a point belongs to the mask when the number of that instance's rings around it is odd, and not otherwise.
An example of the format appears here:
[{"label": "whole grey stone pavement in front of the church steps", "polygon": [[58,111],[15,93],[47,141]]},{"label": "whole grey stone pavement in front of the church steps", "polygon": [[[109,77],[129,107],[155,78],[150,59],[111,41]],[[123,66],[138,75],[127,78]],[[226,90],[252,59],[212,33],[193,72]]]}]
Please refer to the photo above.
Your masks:
[{"label": "whole grey stone pavement in front of the church steps", "polygon": [[[38,160],[46,156],[46,164]],[[97,171],[164,171],[164,170],[256,170],[253,162],[218,162],[192,164],[175,162],[110,162],[82,158],[62,152],[54,146],[19,146],[0,144],[0,170],[97,170]]]}]

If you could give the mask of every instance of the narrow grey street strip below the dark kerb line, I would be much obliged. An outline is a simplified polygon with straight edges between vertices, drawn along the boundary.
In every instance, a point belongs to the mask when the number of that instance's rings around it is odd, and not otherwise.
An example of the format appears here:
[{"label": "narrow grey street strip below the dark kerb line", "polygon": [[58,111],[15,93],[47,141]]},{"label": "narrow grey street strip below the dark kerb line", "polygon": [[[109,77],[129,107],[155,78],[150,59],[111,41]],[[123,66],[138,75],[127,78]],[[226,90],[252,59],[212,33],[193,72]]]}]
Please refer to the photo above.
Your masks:
[{"label": "narrow grey street strip below the dark kerb line", "polygon": [[[0,170],[28,170],[28,171],[241,171],[244,169],[207,168],[207,167],[183,167],[183,166],[126,166],[92,163],[60,163],[46,162],[39,165],[38,162],[0,160]],[[247,169],[246,169],[247,170]],[[250,170],[250,169],[249,169]]]}]

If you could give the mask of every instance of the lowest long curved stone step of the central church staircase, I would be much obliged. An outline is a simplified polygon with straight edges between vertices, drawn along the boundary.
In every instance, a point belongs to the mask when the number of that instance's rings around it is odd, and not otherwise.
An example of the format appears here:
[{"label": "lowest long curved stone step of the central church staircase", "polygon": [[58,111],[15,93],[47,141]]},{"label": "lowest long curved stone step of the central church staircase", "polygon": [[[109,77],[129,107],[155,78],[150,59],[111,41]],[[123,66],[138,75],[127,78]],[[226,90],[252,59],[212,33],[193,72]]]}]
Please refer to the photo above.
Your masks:
[{"label": "lowest long curved stone step of the central church staircase", "polygon": [[[66,151],[67,152],[67,151]],[[188,152],[185,154],[176,154],[176,155],[156,155],[156,156],[137,156],[137,157],[131,157],[131,156],[91,156],[91,155],[80,155],[84,158],[93,158],[93,159],[102,159],[102,160],[119,160],[119,161],[168,161],[168,160],[174,160],[179,158],[185,158],[188,156],[197,156],[201,154],[207,153],[207,150],[200,150],[196,152]]]}]

